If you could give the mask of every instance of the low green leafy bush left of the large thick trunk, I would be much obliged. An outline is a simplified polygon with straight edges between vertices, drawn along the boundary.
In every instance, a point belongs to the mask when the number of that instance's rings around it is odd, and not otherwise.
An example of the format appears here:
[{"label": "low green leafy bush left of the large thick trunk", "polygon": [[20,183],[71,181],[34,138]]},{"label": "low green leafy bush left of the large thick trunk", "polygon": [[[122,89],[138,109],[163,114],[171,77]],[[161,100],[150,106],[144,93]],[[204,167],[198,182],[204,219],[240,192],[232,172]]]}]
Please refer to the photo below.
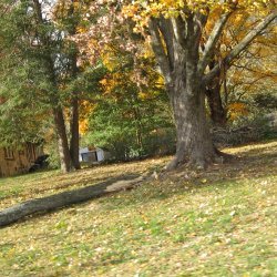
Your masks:
[{"label": "low green leafy bush left of the large thick trunk", "polygon": [[105,147],[115,161],[172,153],[175,127],[168,104],[158,99],[105,99],[91,114],[82,144]]}]

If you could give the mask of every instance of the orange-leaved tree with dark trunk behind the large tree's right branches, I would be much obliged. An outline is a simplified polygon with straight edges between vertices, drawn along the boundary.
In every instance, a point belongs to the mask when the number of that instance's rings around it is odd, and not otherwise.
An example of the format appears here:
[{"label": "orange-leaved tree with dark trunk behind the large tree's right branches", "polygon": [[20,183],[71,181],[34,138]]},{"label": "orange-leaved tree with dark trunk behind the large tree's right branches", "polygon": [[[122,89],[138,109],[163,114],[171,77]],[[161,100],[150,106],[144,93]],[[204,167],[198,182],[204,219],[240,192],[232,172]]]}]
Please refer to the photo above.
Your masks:
[{"label": "orange-leaved tree with dark trunk behind the large tree's right branches", "polygon": [[[230,16],[226,29],[218,41],[216,52],[209,63],[213,69],[216,61],[222,61],[226,53],[230,51],[236,43],[244,38],[256,23],[257,18],[244,12]],[[212,22],[206,29],[213,27]],[[217,76],[207,86],[206,96],[211,111],[211,119],[215,125],[224,126],[229,120],[229,107],[233,110],[233,103],[247,98],[252,91],[261,92],[266,90],[270,80],[274,88],[274,61],[276,52],[276,32],[275,27],[267,28],[261,37],[258,37],[252,45],[239,54],[239,58],[233,63],[233,66],[224,68]],[[263,86],[264,89],[258,89]],[[250,96],[250,95],[249,95]],[[234,112],[234,111],[233,111]],[[239,113],[237,113],[239,116]]]}]

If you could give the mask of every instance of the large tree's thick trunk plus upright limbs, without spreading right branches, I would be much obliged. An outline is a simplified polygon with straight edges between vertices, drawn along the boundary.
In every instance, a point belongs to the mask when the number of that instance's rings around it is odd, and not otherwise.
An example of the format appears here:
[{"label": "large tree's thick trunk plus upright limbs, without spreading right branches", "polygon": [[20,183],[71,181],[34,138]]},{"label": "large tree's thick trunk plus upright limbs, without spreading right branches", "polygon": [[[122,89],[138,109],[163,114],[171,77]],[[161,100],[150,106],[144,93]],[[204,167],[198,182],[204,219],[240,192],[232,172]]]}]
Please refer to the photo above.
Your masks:
[{"label": "large tree's thick trunk plus upright limbs, without spreading right branches", "polygon": [[206,120],[205,85],[198,64],[202,32],[198,23],[204,23],[205,17],[199,16],[197,23],[195,20],[189,13],[186,23],[182,17],[150,21],[152,47],[165,78],[176,124],[176,155],[167,170],[184,163],[205,168],[217,156]]}]

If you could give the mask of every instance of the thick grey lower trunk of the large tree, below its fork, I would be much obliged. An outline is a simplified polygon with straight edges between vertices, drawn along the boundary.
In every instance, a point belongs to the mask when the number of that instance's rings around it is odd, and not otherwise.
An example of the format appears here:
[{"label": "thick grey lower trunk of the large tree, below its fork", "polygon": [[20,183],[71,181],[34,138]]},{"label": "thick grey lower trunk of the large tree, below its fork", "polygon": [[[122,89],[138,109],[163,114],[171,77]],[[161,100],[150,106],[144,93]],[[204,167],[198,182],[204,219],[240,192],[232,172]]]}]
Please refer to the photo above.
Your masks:
[{"label": "thick grey lower trunk of the large tree, below its fork", "polygon": [[195,89],[197,91],[189,91],[175,83],[174,91],[170,93],[177,142],[176,155],[167,170],[184,163],[205,168],[217,155],[206,120],[205,92],[201,88]]}]

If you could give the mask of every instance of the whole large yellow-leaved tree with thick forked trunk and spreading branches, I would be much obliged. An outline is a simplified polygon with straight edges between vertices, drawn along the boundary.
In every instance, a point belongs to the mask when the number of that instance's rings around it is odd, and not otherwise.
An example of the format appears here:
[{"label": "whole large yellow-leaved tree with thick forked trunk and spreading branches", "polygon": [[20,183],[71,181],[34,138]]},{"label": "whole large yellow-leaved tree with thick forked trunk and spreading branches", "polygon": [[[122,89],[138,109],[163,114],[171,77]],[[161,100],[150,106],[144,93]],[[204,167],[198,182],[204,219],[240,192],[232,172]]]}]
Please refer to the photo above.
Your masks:
[{"label": "whole large yellow-leaved tree with thick forked trunk and spreading branches", "polygon": [[[176,155],[167,168],[185,162],[205,167],[218,156],[206,120],[206,88],[276,19],[277,11],[271,1],[161,0],[125,3],[125,14],[131,14],[137,22],[137,29],[143,31],[146,28],[151,35],[174,111]],[[252,12],[257,19],[256,24],[222,61],[208,69],[229,17],[238,11]],[[217,19],[203,45],[203,30],[211,17]]]}]

